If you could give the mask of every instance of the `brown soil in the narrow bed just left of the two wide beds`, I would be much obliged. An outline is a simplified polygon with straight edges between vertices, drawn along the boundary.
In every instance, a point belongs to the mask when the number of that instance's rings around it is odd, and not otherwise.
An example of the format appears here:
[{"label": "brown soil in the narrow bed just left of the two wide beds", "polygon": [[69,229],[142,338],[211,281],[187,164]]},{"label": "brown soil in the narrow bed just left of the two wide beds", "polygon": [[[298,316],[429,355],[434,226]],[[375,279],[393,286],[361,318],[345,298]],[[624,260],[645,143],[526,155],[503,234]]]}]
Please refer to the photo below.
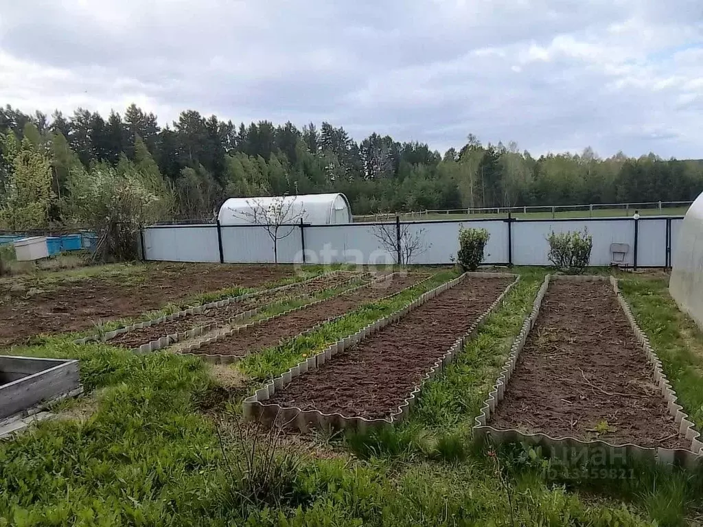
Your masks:
[{"label": "brown soil in the narrow bed just left of the two wide beds", "polygon": [[267,323],[243,328],[228,339],[207,344],[193,350],[193,353],[198,353],[198,355],[243,357],[248,353],[255,353],[256,351],[276,346],[281,341],[296,337],[297,334],[314,325],[354,311],[363,306],[363,304],[368,304],[399,292],[401,289],[405,289],[424,278],[427,278],[427,275],[419,273],[400,275],[362,287],[348,294],[340,294],[314,306],[273,318]]}]

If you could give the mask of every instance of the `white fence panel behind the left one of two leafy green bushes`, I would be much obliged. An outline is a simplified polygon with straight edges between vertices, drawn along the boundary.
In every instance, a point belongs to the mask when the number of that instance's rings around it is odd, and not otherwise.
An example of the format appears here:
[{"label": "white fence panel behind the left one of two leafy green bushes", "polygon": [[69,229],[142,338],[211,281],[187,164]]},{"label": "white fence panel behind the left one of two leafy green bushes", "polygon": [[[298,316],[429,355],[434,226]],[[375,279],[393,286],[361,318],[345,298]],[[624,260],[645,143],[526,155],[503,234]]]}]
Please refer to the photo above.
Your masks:
[{"label": "white fence panel behind the left one of two leafy green bushes", "polygon": [[508,222],[498,220],[411,223],[408,226],[408,238],[422,240],[421,247],[425,249],[415,254],[411,263],[425,265],[456,261],[460,226],[489,231],[484,263],[508,262]]}]

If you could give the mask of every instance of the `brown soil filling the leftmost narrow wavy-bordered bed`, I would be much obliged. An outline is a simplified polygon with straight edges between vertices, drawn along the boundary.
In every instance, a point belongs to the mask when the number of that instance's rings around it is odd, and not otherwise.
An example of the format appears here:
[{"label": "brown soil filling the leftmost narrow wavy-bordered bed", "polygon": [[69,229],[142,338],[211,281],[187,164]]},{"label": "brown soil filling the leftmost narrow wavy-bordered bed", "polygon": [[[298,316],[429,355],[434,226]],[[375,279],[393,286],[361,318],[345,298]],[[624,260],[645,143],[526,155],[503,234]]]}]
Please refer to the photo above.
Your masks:
[{"label": "brown soil filling the leftmost narrow wavy-bordered bed", "polygon": [[325,289],[340,287],[344,282],[347,282],[347,280],[351,280],[354,276],[359,276],[360,274],[361,273],[354,273],[352,271],[344,271],[330,276],[319,276],[309,282],[295,284],[293,287],[289,287],[283,291],[264,292],[258,294],[256,297],[231,302],[221,308],[211,308],[202,313],[186,315],[174,320],[167,320],[157,325],[131,330],[110,339],[110,344],[133,349],[138,348],[141,344],[147,344],[150,341],[159,339],[160,337],[188,331],[194,327],[207,324],[217,324],[217,327],[224,327],[239,313],[269,304],[276,304],[288,298],[311,296]]}]

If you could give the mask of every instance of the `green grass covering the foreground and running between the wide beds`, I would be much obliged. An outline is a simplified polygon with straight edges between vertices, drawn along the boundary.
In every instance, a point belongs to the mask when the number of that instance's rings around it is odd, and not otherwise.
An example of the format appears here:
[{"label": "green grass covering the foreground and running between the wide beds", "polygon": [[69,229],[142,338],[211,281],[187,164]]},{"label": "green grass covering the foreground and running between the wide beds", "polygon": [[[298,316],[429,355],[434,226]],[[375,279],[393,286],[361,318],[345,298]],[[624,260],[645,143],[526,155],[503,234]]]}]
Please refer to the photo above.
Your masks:
[{"label": "green grass covering the foreground and running between the wide beds", "polygon": [[[327,438],[323,457],[309,455],[315,440],[303,436],[295,442],[298,447],[286,446],[285,455],[273,455],[270,466],[258,464],[254,473],[238,462],[252,451],[263,462],[269,450],[261,443],[233,441],[237,407],[222,416],[219,426],[199,411],[215,381],[197,358],[135,355],[105,344],[77,346],[70,337],[46,337],[39,345],[15,349],[79,358],[96,412],[82,422],[45,422],[13,441],[0,441],[0,526],[691,523],[701,514],[703,496],[695,474],[643,466],[633,467],[635,479],[574,479],[529,448],[499,449],[488,456],[472,441],[473,417],[546,273],[517,271],[519,285],[445,375],[425,387],[407,422],[373,434]],[[253,389],[453,275],[441,271],[411,292],[364,306],[235,367]],[[681,383],[682,401],[684,394],[687,408],[700,401],[695,389],[688,393],[685,387],[699,383],[690,370],[699,367],[701,337],[666,296],[665,282],[631,275],[621,287],[669,379],[675,386]],[[272,309],[277,308],[283,304]],[[217,428],[234,432],[224,435],[227,460]],[[279,484],[266,484],[273,474]]]}]

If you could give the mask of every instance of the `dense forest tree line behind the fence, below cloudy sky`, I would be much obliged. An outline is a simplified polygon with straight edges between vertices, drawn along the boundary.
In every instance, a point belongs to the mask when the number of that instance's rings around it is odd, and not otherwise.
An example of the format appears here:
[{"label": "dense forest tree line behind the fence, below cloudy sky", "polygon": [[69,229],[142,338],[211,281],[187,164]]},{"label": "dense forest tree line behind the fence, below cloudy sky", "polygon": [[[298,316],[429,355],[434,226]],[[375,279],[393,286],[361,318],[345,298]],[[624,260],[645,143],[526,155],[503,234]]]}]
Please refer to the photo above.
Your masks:
[{"label": "dense forest tree line behind the fence, below cloudy sky", "polygon": [[[354,214],[424,209],[693,200],[703,162],[538,158],[467,136],[444,154],[327,122],[237,126],[194,110],[160,127],[136,105],[106,118],[0,108],[0,228],[212,219],[228,197],[342,192]],[[135,217],[136,216],[136,217]]]}]

